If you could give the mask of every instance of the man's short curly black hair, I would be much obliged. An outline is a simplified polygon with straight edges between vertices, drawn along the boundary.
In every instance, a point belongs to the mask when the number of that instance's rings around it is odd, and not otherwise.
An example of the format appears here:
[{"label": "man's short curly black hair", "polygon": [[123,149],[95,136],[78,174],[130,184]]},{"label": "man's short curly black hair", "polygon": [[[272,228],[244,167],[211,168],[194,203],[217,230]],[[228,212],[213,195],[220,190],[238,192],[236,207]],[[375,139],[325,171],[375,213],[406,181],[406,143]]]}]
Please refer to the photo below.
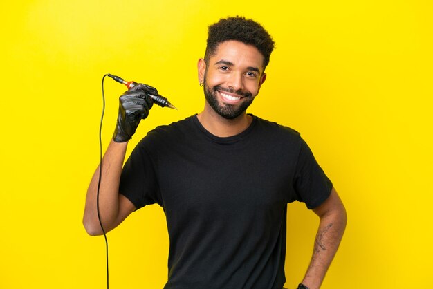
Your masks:
[{"label": "man's short curly black hair", "polygon": [[268,66],[275,42],[259,23],[240,16],[219,19],[218,22],[209,26],[205,62],[208,63],[209,58],[216,53],[219,44],[230,40],[255,46],[264,56],[264,68]]}]

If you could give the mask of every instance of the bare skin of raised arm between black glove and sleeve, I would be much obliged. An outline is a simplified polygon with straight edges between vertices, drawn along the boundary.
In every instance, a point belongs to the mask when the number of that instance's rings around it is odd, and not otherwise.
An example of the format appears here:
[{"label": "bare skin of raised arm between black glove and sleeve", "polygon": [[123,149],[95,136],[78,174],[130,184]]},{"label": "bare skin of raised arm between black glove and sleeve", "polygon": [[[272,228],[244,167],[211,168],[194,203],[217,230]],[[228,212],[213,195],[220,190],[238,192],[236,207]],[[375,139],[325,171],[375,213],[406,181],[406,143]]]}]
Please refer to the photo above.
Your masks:
[{"label": "bare skin of raised arm between black glove and sleeve", "polygon": [[[117,227],[131,212],[136,209],[125,196],[119,194],[120,174],[125,160],[127,142],[111,140],[102,160],[100,181],[99,208],[104,231],[109,232]],[[97,192],[100,167],[95,171],[87,189],[83,225],[91,236],[103,234],[97,210]]]}]

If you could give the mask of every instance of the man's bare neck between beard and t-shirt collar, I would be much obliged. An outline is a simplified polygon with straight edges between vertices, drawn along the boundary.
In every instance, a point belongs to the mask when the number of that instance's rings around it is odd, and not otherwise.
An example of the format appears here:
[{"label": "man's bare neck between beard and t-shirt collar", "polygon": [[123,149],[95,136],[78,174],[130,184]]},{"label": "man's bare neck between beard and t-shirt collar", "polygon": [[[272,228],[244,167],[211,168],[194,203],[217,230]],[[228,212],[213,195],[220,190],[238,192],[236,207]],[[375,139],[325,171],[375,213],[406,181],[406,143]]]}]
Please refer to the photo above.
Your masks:
[{"label": "man's bare neck between beard and t-shirt collar", "polygon": [[232,120],[223,118],[208,107],[208,103],[206,103],[205,109],[197,115],[197,118],[207,131],[220,138],[236,136],[245,131],[252,122],[252,117],[245,112]]}]

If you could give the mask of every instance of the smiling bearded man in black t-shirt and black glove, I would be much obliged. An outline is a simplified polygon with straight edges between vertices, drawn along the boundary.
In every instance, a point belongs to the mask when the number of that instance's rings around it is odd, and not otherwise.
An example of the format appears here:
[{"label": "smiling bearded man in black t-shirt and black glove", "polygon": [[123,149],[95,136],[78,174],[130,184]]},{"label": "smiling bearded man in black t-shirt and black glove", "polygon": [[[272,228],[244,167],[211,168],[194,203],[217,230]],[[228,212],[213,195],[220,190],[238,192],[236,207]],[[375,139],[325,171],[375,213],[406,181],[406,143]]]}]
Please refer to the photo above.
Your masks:
[{"label": "smiling bearded man in black t-shirt and black glove", "polygon": [[[278,288],[286,281],[287,203],[320,217],[313,257],[298,288],[320,288],[338,249],[346,212],[300,134],[246,114],[266,80],[274,42],[243,17],[209,28],[198,115],[157,127],[122,169],[127,141],[152,106],[151,86],[120,97],[118,124],[105,153],[100,216],[108,232],[131,212],[158,203],[167,218],[165,288]],[[86,197],[84,227],[102,234],[96,211],[99,169]]]}]

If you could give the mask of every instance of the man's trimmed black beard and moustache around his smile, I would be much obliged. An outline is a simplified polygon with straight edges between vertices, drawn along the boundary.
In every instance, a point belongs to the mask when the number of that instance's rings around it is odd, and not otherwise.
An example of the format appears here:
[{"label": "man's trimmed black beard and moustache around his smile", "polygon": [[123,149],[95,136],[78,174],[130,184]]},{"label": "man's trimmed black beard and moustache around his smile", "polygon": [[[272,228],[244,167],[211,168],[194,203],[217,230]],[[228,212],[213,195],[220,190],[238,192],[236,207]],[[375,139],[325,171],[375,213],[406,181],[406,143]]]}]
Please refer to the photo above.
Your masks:
[{"label": "man's trimmed black beard and moustache around his smile", "polygon": [[[245,92],[241,90],[234,91],[233,89],[222,88],[219,85],[210,88],[206,84],[206,82],[204,82],[203,91],[205,93],[205,98],[208,101],[210,107],[212,107],[212,109],[214,109],[216,113],[218,113],[223,118],[228,120],[233,120],[234,118],[237,118],[239,115],[243,114],[246,111],[246,109],[248,109],[248,106],[250,106],[253,100],[253,97],[249,92]],[[235,93],[239,95],[239,97],[244,97],[246,100],[243,100],[243,102],[241,102],[239,106],[235,106],[233,104],[221,104],[218,102],[216,98],[217,91]]]}]

